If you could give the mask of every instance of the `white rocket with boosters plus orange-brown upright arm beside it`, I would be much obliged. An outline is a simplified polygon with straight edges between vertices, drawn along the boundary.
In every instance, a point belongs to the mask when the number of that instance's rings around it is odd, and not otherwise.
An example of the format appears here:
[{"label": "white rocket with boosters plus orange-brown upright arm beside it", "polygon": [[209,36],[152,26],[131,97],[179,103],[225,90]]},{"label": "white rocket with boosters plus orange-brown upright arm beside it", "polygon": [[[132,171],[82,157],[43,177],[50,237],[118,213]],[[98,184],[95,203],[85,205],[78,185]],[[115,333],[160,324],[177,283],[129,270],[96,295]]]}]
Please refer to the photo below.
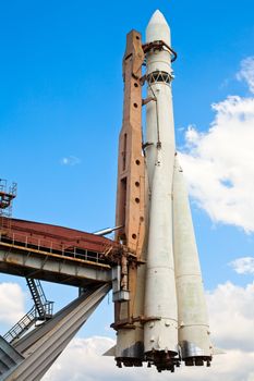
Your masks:
[{"label": "white rocket with boosters plus orange-brown upright arm beside it", "polygon": [[[181,361],[209,366],[213,356],[188,190],[176,152],[176,57],[159,11],[147,25],[144,45],[137,32],[128,35],[116,221],[122,226],[116,239],[123,253],[112,270],[117,345],[110,352],[119,367],[147,362],[158,371],[174,371]],[[144,84],[147,97],[142,100]]]}]

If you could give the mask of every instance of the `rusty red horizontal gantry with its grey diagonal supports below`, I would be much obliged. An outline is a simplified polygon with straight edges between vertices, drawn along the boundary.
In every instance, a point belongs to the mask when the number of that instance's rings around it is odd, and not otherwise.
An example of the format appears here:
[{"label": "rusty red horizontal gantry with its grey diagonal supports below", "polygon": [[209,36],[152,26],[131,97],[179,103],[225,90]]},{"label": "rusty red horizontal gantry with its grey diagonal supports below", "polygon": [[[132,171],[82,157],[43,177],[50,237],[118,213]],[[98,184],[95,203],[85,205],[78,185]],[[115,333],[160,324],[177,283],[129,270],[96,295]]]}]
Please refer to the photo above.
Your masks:
[{"label": "rusty red horizontal gantry with its grey diagonal supports below", "polygon": [[0,234],[0,271],[26,281],[73,285],[82,294],[31,333],[27,329],[36,320],[27,314],[29,321],[21,319],[0,336],[0,380],[40,380],[110,291],[111,268],[120,251],[120,245],[105,237],[12,219],[12,229]]}]

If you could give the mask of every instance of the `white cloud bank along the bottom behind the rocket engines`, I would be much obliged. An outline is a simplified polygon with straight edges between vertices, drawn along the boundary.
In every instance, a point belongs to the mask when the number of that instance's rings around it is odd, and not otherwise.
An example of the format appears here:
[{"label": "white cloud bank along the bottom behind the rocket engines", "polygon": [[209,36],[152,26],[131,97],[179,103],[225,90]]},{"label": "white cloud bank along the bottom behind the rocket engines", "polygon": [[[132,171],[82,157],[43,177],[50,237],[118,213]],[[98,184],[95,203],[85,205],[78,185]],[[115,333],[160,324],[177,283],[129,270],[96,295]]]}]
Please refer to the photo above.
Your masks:
[{"label": "white cloud bank along the bottom behind the rocket engines", "polygon": [[[111,357],[100,354],[113,341],[108,337],[74,339],[55,366],[44,377],[44,381],[166,381],[168,372],[158,373],[154,368],[122,368],[114,365]],[[102,351],[101,351],[102,349]],[[221,377],[227,381],[254,381],[254,352],[228,351],[216,356],[210,368],[184,367],[176,370],[176,381],[216,381]]]}]

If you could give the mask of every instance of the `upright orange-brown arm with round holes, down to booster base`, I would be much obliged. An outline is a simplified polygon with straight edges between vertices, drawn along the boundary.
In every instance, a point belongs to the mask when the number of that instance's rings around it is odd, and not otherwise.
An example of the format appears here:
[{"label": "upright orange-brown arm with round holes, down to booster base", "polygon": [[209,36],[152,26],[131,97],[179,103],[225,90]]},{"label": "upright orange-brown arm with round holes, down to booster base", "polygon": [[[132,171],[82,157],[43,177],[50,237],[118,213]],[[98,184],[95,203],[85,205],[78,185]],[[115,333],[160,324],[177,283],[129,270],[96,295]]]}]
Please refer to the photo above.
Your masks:
[{"label": "upright orange-brown arm with round holes, down to booster base", "polygon": [[[116,225],[123,228],[116,239],[125,245],[113,274],[119,290],[113,290],[117,335],[117,364],[133,366],[143,360],[146,199],[145,162],[142,139],[142,36],[131,30],[123,57],[124,103],[119,136],[118,197]],[[133,260],[130,259],[133,255]],[[117,292],[116,292],[117,291]]]}]

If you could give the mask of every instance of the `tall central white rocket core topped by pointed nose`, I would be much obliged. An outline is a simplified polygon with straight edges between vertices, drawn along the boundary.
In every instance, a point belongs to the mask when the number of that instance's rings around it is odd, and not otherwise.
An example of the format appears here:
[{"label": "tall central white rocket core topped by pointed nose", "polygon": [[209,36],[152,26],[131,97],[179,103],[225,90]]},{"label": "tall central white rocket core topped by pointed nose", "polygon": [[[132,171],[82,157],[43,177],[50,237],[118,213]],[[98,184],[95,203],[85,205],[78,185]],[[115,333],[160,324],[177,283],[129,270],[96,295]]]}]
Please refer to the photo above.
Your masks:
[{"label": "tall central white rocket core topped by pointed nose", "polygon": [[[146,29],[146,42],[170,45],[170,30],[157,11]],[[150,190],[149,233],[146,261],[144,349],[178,354],[178,311],[172,247],[172,179],[174,127],[171,99],[171,56],[168,50],[146,54],[148,97],[146,163]],[[162,73],[162,74],[161,74]],[[164,75],[167,82],[158,81]],[[162,78],[162,77],[161,77]]]}]

